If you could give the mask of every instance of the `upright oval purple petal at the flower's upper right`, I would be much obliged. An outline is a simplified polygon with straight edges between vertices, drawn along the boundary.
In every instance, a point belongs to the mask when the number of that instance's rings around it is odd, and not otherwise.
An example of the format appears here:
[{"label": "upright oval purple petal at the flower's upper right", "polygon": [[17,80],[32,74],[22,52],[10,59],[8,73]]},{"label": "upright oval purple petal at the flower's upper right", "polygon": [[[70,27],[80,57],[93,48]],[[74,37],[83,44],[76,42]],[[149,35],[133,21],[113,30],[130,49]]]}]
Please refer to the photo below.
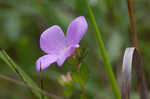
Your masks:
[{"label": "upright oval purple petal at the flower's upper right", "polygon": [[84,16],[73,20],[67,30],[67,45],[76,45],[80,42],[87,30],[88,24]]}]

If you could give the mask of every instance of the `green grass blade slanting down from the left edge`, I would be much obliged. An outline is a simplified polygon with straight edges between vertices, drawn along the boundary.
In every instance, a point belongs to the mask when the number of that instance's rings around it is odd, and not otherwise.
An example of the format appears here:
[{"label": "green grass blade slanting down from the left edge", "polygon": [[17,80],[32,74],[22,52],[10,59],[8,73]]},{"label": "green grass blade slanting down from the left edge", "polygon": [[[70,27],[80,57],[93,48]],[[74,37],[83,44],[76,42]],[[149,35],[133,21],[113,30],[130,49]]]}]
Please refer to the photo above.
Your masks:
[{"label": "green grass blade slanting down from the left edge", "polygon": [[[39,88],[36,83],[7,55],[7,53],[4,50],[0,50],[0,58],[8,65],[10,68],[16,72],[16,74],[28,85]],[[37,91],[32,89],[32,92],[35,94],[35,96],[39,99],[41,99],[41,94]],[[48,99],[46,97],[45,99]]]}]

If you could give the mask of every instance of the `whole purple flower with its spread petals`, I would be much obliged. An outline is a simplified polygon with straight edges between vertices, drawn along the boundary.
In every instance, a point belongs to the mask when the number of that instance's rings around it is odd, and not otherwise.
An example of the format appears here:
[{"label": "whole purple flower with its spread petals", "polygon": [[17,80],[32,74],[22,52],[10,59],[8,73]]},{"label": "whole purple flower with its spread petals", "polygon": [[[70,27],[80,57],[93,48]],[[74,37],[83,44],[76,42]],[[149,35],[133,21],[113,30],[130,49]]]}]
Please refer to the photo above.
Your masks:
[{"label": "whole purple flower with its spread petals", "polygon": [[66,36],[57,25],[45,30],[40,37],[40,47],[46,55],[37,60],[37,72],[40,73],[54,62],[62,66],[64,61],[73,54],[74,49],[79,48],[79,42],[87,27],[85,18],[80,16],[70,23]]}]

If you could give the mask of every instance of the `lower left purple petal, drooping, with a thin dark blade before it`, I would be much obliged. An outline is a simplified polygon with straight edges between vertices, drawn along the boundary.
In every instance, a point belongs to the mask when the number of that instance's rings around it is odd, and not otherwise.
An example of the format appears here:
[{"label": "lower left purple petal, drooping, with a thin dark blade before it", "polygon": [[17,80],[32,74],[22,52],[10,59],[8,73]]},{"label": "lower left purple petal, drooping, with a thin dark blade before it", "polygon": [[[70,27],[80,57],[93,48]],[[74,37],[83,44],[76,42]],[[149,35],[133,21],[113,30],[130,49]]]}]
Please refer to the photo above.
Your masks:
[{"label": "lower left purple petal, drooping, with a thin dark blade before it", "polygon": [[45,55],[40,57],[36,62],[37,72],[40,73],[40,71],[45,70],[50,66],[50,64],[56,62],[57,59],[56,55]]}]

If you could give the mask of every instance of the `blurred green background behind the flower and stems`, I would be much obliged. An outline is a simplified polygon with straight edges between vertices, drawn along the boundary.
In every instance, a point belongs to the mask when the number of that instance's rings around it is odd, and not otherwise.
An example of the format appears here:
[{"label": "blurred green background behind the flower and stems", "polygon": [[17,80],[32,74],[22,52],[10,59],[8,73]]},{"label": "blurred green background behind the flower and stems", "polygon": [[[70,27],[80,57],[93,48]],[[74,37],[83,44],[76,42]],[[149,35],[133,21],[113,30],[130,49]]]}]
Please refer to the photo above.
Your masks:
[{"label": "blurred green background behind the flower and stems", "polygon": [[[131,47],[131,35],[125,0],[89,0],[96,21],[102,32],[107,54],[117,74],[121,71],[125,48]],[[142,53],[148,87],[150,87],[150,0],[133,0],[138,42]],[[89,68],[89,81],[85,85],[88,99],[113,99],[107,74],[101,61],[97,40],[88,16],[85,0],[0,0],[0,47],[31,77],[40,83],[35,69],[36,60],[44,55],[40,50],[41,33],[52,25],[59,25],[66,32],[69,23],[78,16],[85,16],[88,31],[81,41],[81,48],[88,48],[85,62]],[[0,72],[18,79],[15,73],[0,60]],[[71,71],[53,64],[42,73],[45,90],[64,97],[58,83],[60,75]],[[19,80],[19,79],[18,79]],[[81,90],[76,86],[70,99],[79,99]],[[36,99],[25,87],[0,79],[0,99]],[[132,80],[132,98],[138,99],[135,75]]]}]

